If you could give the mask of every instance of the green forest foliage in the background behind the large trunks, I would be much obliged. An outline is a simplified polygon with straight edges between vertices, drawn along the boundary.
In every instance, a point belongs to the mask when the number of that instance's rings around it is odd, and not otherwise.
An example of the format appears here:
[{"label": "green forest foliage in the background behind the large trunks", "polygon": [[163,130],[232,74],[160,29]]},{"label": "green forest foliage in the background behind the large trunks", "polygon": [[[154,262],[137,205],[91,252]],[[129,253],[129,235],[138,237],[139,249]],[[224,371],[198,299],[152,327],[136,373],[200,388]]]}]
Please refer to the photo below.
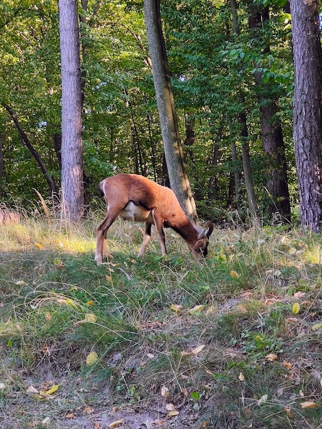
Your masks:
[{"label": "green forest foliage in the background behind the large trunks", "polygon": [[[257,3],[256,3],[257,4]],[[260,5],[263,7],[263,5]],[[35,189],[50,196],[44,174],[16,121],[60,187],[60,51],[54,1],[1,1],[1,201],[28,206]],[[297,206],[292,140],[293,65],[290,16],[272,4],[260,33],[249,28],[251,5],[238,6],[233,31],[230,3],[162,2],[162,19],[188,177],[202,217],[223,218],[236,208],[234,171],[243,138],[238,115],[247,115],[251,168],[260,214],[270,204],[269,165],[262,149],[260,108],[278,100],[290,198]],[[147,49],[143,2],[88,1],[79,5],[84,79],[84,186],[93,204],[97,183],[116,172],[164,178],[158,110]],[[269,50],[267,46],[269,44]],[[260,73],[264,86],[256,86]],[[240,97],[240,94],[242,97]],[[232,160],[232,142],[237,158]],[[240,207],[247,207],[243,180]]]}]

